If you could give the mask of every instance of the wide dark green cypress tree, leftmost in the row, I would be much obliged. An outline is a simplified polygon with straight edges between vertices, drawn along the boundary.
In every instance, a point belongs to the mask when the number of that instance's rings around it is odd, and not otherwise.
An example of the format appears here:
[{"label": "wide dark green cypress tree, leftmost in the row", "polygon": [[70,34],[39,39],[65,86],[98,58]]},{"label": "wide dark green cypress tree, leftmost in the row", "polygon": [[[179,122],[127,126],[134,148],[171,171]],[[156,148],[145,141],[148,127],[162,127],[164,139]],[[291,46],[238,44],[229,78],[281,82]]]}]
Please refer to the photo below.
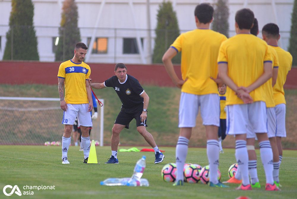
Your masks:
[{"label": "wide dark green cypress tree, leftmost in the row", "polygon": [[4,60],[39,60],[31,0],[12,0]]}]

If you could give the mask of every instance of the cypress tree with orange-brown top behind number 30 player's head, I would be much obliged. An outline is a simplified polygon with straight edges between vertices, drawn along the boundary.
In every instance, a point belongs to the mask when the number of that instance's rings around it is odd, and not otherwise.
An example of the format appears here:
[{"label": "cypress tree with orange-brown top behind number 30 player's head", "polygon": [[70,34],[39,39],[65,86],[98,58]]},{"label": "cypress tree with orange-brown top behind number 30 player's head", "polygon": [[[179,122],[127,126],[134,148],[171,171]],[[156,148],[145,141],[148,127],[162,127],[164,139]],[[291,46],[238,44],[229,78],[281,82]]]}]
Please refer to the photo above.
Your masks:
[{"label": "cypress tree with orange-brown top behind number 30 player's head", "polygon": [[78,8],[74,0],[65,0],[62,8],[62,17],[59,27],[59,42],[55,52],[56,61],[72,59],[74,47],[80,42],[78,28]]}]

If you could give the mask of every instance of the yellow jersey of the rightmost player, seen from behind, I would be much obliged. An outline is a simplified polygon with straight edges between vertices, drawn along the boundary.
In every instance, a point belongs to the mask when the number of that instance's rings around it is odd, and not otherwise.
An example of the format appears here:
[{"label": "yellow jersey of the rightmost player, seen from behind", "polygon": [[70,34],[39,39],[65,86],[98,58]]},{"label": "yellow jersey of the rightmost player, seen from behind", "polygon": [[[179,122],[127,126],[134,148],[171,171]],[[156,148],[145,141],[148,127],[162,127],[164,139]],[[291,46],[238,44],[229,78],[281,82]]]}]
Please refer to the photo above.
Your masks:
[{"label": "yellow jersey of the rightmost player, seen from behind", "polygon": [[279,58],[279,71],[277,82],[273,87],[273,99],[275,105],[285,104],[284,84],[287,79],[287,74],[291,70],[293,57],[292,55],[280,48],[279,46],[271,46],[277,52]]}]

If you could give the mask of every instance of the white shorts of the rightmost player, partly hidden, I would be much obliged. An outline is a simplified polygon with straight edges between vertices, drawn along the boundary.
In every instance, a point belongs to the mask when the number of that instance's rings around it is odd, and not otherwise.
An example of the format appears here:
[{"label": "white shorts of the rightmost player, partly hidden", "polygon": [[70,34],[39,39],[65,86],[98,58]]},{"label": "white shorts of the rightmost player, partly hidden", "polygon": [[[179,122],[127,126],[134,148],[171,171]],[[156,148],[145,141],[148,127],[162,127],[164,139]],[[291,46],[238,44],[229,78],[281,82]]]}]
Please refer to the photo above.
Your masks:
[{"label": "white shorts of the rightmost player, partly hidden", "polygon": [[286,105],[279,104],[275,106],[277,116],[277,137],[287,137],[286,133]]}]

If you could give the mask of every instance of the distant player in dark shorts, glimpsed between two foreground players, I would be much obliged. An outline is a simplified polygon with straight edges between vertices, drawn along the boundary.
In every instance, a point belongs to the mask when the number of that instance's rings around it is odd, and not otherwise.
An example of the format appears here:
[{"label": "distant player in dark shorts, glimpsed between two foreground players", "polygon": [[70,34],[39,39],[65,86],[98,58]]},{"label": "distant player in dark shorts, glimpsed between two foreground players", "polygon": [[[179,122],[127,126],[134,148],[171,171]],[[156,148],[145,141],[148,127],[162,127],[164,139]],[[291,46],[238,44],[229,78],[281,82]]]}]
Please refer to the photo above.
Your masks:
[{"label": "distant player in dark shorts, glimpsed between two foreground players", "polygon": [[220,97],[220,126],[218,131],[219,136],[219,150],[220,153],[224,153],[223,147],[222,147],[222,140],[226,137],[226,85],[223,84],[221,87],[219,87],[219,97]]}]

